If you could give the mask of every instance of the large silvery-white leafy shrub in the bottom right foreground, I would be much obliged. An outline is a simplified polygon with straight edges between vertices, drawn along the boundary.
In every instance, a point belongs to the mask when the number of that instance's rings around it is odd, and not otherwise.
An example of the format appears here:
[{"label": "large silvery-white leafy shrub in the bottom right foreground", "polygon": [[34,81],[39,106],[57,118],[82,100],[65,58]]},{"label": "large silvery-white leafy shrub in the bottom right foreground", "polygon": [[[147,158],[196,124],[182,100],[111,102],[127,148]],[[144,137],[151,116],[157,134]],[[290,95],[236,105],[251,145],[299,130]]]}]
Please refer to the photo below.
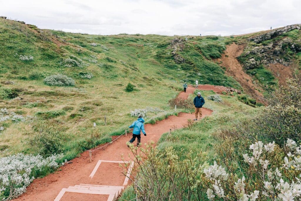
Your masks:
[{"label": "large silvery-white leafy shrub in the bottom right foreground", "polygon": [[[275,150],[275,149],[278,150]],[[231,182],[237,175],[230,174],[214,162],[204,169],[211,184],[207,189],[209,200],[269,200],[293,201],[301,199],[301,145],[287,139],[283,149],[273,143],[258,141],[250,145],[251,154],[243,154],[241,170],[249,178],[242,176],[237,182]],[[274,153],[276,152],[276,153]],[[285,155],[283,154],[285,153]],[[280,159],[278,164],[271,159]],[[231,172],[231,168],[228,168]],[[241,171],[240,170],[240,171]]]}]

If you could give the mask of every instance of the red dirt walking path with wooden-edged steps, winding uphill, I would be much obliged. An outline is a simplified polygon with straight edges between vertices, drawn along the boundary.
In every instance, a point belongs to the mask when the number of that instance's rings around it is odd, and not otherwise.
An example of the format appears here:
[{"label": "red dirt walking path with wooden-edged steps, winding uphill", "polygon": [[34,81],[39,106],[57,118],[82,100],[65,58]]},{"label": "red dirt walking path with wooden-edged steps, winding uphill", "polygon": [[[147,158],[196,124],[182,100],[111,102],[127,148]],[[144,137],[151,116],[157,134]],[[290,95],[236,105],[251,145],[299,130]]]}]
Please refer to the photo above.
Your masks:
[{"label": "red dirt walking path with wooden-edged steps, winding uphill", "polygon": [[[187,97],[189,93],[193,93],[195,88],[189,87],[188,89]],[[212,110],[202,108],[203,117],[211,115],[212,112]],[[188,119],[194,119],[194,115],[179,113],[178,116],[169,116],[167,119],[154,125],[146,124],[145,131],[147,136],[141,136],[141,143],[144,144],[147,141],[157,143],[163,133],[168,132],[170,128],[182,128]],[[117,136],[113,137],[113,139],[116,138]],[[26,193],[15,200],[54,200],[63,188],[72,186],[74,189],[87,189],[82,186],[76,187],[79,184],[122,186],[125,180],[122,172],[124,172],[125,168],[120,167],[118,163],[101,162],[94,176],[92,178],[89,176],[99,160],[122,161],[122,156],[125,160],[129,160],[132,153],[126,146],[126,141],[129,141],[131,138],[132,135],[130,134],[127,136],[123,135],[103,149],[92,152],[92,162],[89,162],[88,151],[85,151],[81,156],[71,160],[72,163],[62,166],[61,171],[41,179],[35,179],[27,188]],[[144,147],[144,145],[141,147]],[[93,187],[90,186],[90,188]],[[108,197],[109,195],[66,192],[61,197],[61,200],[109,200],[110,198],[108,199]]]}]

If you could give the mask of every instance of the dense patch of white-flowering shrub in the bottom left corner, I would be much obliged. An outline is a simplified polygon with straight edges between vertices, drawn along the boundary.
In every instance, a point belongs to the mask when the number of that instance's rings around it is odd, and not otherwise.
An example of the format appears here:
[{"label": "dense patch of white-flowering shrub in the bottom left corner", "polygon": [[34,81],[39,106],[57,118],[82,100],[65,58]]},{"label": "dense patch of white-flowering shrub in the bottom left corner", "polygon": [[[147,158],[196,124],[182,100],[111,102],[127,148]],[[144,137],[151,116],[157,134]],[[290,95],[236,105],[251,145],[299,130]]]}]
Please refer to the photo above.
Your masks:
[{"label": "dense patch of white-flowering shrub in the bottom left corner", "polygon": [[0,158],[0,199],[10,200],[25,192],[26,187],[35,178],[35,172],[45,168],[56,169],[60,166],[56,161],[62,155],[43,158],[40,155],[16,155]]}]

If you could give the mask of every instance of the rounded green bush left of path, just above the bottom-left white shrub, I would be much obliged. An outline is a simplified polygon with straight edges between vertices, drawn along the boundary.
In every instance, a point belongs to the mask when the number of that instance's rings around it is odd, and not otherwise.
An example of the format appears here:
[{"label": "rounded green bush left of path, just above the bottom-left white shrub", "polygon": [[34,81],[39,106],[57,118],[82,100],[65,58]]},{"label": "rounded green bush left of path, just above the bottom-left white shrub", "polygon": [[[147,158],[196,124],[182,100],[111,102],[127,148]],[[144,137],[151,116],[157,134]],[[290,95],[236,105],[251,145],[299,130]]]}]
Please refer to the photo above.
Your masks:
[{"label": "rounded green bush left of path, just above the bottom-left white shrub", "polygon": [[42,156],[50,156],[54,153],[63,152],[64,134],[60,126],[46,122],[38,122],[34,126],[35,135],[29,139],[33,150]]}]

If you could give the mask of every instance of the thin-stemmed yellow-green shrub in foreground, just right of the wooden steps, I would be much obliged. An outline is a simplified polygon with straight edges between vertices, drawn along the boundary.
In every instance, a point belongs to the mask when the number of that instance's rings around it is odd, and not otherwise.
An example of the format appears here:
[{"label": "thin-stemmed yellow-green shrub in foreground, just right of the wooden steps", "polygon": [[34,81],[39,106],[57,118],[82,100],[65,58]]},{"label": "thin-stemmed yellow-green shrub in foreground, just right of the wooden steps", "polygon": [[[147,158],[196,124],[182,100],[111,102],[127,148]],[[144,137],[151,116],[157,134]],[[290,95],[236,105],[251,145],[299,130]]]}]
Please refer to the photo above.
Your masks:
[{"label": "thin-stemmed yellow-green shrub in foreground, just right of the wooden steps", "polygon": [[141,151],[132,144],[130,148],[134,155],[131,160],[135,162],[131,172],[135,181],[132,190],[138,200],[206,200],[202,182],[202,170],[206,165],[204,154],[192,158],[188,153],[187,159],[182,160],[172,147],[163,153],[153,144]]}]

